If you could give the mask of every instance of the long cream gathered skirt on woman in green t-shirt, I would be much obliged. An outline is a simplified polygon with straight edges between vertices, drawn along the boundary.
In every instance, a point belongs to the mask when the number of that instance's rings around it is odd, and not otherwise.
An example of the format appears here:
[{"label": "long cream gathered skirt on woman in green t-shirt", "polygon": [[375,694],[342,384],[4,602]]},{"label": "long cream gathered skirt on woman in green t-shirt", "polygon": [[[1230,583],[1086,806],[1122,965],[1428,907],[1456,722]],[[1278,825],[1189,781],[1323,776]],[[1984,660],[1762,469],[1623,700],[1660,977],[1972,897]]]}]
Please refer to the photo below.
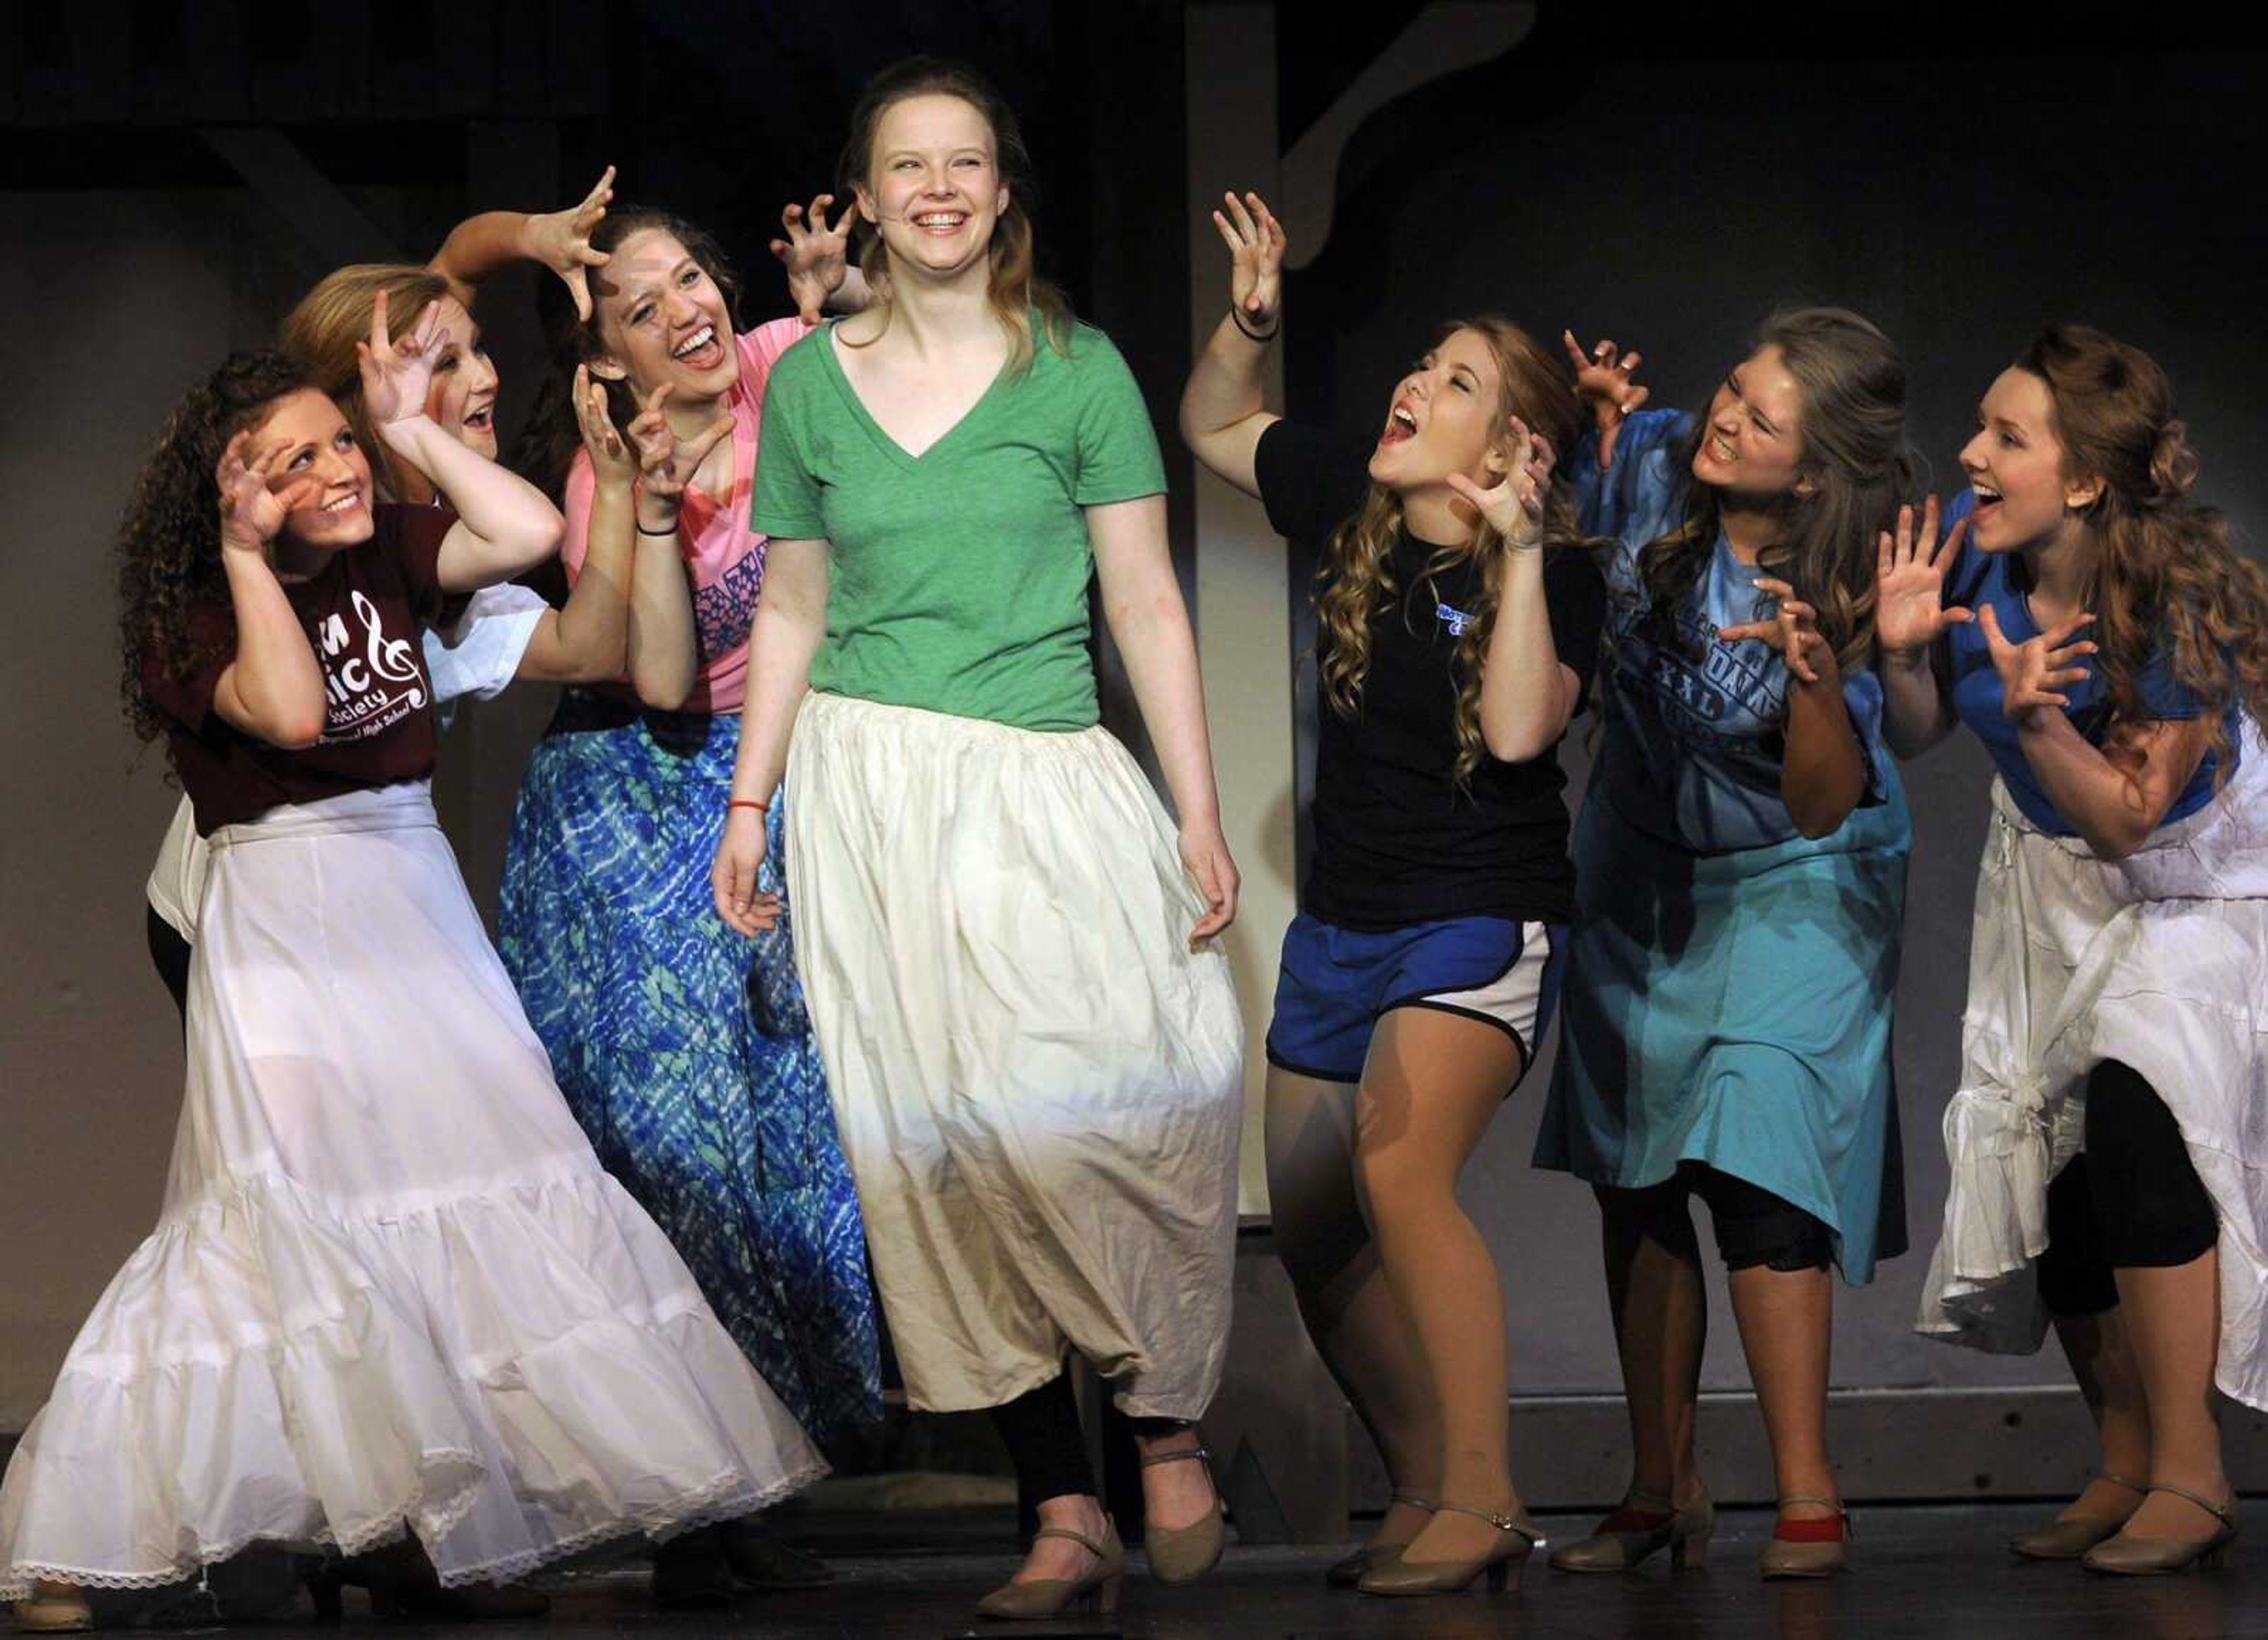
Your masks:
[{"label": "long cream gathered skirt on woman in green t-shirt", "polygon": [[1132,1415],[1220,1381],[1243,1021],[1173,823],[1107,730],[812,694],[796,960],[907,1400],[998,1406],[1066,1341]]}]

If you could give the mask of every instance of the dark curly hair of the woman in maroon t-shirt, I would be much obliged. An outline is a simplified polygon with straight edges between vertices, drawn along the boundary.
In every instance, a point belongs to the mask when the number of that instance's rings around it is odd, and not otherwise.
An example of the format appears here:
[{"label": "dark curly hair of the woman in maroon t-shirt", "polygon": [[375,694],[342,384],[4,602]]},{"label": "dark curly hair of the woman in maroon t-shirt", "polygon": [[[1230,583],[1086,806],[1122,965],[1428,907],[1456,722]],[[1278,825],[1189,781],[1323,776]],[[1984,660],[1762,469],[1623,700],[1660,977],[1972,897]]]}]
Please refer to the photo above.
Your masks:
[{"label": "dark curly hair of the woman in maroon t-shirt", "polygon": [[229,440],[259,426],[284,399],[313,386],[306,365],[277,349],[229,354],[166,417],[156,449],[134,476],[118,519],[118,649],[127,724],[138,739],[166,733],[166,715],[143,694],[143,669],[170,678],[234,642],[225,626],[200,644],[197,610],[229,612],[220,567],[220,485],[213,472]]}]

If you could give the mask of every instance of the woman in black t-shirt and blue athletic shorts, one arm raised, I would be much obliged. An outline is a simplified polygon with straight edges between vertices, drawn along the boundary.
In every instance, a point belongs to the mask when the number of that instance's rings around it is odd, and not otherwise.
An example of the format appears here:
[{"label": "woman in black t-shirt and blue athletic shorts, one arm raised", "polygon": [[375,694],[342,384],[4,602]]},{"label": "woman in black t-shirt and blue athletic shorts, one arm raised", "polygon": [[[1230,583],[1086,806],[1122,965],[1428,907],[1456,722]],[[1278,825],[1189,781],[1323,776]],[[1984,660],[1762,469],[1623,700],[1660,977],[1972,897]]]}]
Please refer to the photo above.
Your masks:
[{"label": "woman in black t-shirt and blue athletic shorts, one arm raised", "polygon": [[1581,431],[1574,377],[1520,327],[1465,320],[1377,433],[1270,415],[1284,229],[1256,195],[1225,206],[1232,302],[1182,436],[1320,549],[1315,857],[1268,1028],[1268,1195],[1395,1493],[1327,1576],[1501,1586],[1535,1529],[1506,1461],[1504,1288],[1456,1177],[1549,1025],[1574,898],[1556,749],[1606,603],[1551,476]]}]

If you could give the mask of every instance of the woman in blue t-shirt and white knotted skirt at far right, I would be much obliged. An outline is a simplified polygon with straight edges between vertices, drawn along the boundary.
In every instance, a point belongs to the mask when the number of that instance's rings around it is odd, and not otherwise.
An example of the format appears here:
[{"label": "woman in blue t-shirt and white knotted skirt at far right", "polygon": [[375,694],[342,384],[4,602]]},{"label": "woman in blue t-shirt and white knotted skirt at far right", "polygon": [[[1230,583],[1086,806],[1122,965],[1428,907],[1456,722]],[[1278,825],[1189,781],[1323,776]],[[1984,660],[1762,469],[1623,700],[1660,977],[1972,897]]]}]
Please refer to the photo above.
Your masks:
[{"label": "woman in blue t-shirt and white knotted skirt at far right", "polygon": [[2102,1470],[2009,1547],[2168,1572],[2236,1533],[2211,1388],[2268,1406],[2268,576],[2100,331],[2000,372],[1962,470],[1944,547],[1932,504],[1878,567],[1889,744],[1962,721],[1998,769],[1919,1325],[2053,1320]]}]

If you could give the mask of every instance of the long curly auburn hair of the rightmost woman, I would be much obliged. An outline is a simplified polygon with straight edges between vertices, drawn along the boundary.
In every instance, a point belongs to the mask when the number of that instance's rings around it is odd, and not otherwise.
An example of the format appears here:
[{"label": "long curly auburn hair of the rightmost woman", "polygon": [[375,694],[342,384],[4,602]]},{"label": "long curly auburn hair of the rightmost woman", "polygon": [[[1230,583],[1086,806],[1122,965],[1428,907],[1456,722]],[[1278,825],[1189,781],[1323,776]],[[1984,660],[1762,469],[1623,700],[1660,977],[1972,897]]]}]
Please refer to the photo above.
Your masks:
[{"label": "long curly auburn hair of the rightmost woman", "polygon": [[2173,381],[2150,354],[2087,324],[2050,324],[2016,370],[2048,386],[2064,476],[2102,483],[2080,517],[2100,547],[2089,637],[2112,703],[2105,755],[2141,773],[2116,728],[2150,719],[2141,674],[2168,656],[2214,719],[2209,751],[2227,778],[2229,705],[2254,721],[2268,708],[2268,574],[2216,508],[2189,499],[2200,463],[2173,413]]}]

